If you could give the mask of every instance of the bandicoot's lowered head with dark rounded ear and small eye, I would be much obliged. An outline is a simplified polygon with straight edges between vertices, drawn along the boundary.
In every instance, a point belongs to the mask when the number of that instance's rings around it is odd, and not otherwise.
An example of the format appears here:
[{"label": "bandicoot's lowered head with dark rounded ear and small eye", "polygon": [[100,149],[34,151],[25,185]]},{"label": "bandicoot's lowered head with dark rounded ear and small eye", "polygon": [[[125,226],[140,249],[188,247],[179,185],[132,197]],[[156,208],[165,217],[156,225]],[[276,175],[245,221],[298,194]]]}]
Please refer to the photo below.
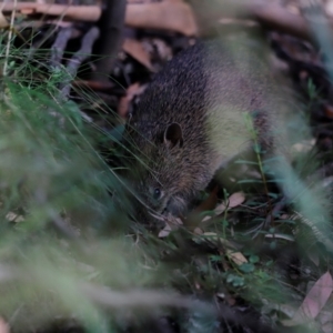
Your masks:
[{"label": "bandicoot's lowered head with dark rounded ear and small eye", "polygon": [[[133,151],[130,178],[147,212],[145,221],[139,222],[153,224],[160,221],[162,223],[158,224],[163,224],[168,215],[176,216],[183,212],[204,173],[191,158],[191,142],[183,137],[182,127],[175,122],[157,125],[133,121],[125,129],[124,140]],[[204,165],[200,168],[204,170]]]}]

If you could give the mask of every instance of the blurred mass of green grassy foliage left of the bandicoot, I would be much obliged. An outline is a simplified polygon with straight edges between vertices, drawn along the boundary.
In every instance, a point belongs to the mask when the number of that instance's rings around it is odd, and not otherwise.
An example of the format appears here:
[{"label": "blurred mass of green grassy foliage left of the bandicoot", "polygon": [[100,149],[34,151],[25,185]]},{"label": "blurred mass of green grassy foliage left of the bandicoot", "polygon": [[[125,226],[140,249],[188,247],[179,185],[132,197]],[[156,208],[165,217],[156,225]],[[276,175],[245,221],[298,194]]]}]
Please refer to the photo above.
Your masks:
[{"label": "blurred mass of green grassy foliage left of the bandicoot", "polygon": [[[120,312],[132,306],[132,297],[139,297],[135,306],[140,300],[147,307],[159,304],[157,296],[135,295],[137,287],[159,284],[144,269],[155,263],[124,236],[130,229],[120,208],[131,209],[124,185],[97,151],[99,133],[82,121],[75,103],[60,98],[67,73],[58,68],[48,77],[14,49],[3,62],[1,315],[14,332],[58,316],[74,316],[99,332],[111,323],[101,310],[105,302]],[[107,301],[98,284],[110,287]]]}]

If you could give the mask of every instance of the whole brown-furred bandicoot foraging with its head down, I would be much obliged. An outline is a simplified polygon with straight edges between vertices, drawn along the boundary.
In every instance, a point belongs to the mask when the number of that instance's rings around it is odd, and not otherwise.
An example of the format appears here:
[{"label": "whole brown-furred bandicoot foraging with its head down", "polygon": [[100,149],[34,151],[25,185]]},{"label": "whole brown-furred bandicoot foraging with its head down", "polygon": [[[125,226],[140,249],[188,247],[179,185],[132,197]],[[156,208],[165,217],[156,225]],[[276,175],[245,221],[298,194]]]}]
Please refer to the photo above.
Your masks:
[{"label": "whole brown-furred bandicoot foraging with its head down", "polygon": [[138,194],[151,213],[183,211],[220,167],[251,150],[255,135],[246,113],[262,149],[274,151],[272,113],[281,103],[263,60],[251,52],[220,42],[195,44],[143,93],[124,140],[135,155],[131,169],[141,170]]}]

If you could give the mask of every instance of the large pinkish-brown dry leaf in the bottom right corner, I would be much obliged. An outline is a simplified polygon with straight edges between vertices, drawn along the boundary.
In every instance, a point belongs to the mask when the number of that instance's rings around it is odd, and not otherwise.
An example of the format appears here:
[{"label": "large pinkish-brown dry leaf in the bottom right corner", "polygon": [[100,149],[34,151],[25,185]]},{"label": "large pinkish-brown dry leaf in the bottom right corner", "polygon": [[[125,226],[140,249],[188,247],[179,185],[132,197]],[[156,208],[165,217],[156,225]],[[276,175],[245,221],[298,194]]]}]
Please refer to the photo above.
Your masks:
[{"label": "large pinkish-brown dry leaf in the bottom right corner", "polygon": [[293,319],[282,321],[282,323],[285,326],[294,326],[304,321],[314,320],[326,304],[332,291],[333,280],[330,272],[326,272],[312,286]]}]

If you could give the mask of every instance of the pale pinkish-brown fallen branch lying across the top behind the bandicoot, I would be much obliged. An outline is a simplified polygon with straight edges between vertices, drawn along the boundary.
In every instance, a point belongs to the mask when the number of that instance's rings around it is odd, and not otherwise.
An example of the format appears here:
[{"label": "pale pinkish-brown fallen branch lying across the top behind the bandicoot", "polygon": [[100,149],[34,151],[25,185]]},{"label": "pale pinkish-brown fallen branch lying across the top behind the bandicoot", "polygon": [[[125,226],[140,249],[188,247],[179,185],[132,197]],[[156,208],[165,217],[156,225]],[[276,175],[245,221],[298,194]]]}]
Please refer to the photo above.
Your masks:
[{"label": "pale pinkish-brown fallen branch lying across the top behind the bandicoot", "polygon": [[[251,19],[271,30],[285,32],[302,39],[311,40],[305,19],[291,13],[278,3],[266,3],[262,0],[188,0],[196,17],[199,34],[208,34],[221,18]],[[0,10],[10,13],[13,3],[2,3]],[[19,2],[17,12],[26,14],[63,16],[64,20],[95,22],[101,18],[102,9],[99,6],[63,6],[36,2]],[[333,20],[329,20],[333,27]],[[161,29],[183,33],[198,34],[198,27],[190,6],[183,2],[168,1],[160,3],[128,4],[125,24],[132,28]]]}]

